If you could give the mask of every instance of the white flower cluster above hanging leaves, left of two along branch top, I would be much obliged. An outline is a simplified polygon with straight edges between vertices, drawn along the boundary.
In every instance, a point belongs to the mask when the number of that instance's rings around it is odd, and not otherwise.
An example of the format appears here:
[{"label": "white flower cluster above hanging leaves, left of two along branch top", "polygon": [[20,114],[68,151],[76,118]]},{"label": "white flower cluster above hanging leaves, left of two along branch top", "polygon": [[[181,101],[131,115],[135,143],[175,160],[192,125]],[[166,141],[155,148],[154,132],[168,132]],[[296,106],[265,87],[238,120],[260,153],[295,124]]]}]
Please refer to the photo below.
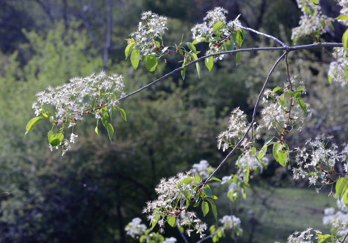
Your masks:
[{"label": "white flower cluster above hanging leaves, left of two along branch top", "polygon": [[[158,48],[155,42],[156,38],[162,39],[165,30],[168,30],[166,27],[167,17],[147,11],[142,13],[141,19],[145,23],[139,22],[138,30],[130,33],[129,36],[135,40],[135,46],[140,48],[142,56],[154,55]],[[132,42],[128,41],[128,44],[130,43]]]}]

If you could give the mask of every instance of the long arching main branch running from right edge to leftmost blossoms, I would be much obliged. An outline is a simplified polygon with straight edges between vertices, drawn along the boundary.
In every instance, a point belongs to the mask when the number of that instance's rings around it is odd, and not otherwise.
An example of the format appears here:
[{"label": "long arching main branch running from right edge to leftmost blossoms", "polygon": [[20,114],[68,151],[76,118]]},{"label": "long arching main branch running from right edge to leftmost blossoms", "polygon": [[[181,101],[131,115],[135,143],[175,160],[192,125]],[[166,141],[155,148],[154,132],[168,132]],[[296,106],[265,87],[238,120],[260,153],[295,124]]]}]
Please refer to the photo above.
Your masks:
[{"label": "long arching main branch running from right edge to leftmost blossoms", "polygon": [[304,45],[304,46],[295,46],[295,47],[288,47],[288,46],[283,46],[283,47],[261,47],[261,48],[247,48],[247,49],[238,49],[238,50],[230,50],[230,51],[226,51],[226,52],[218,52],[218,53],[212,53],[206,56],[202,56],[200,58],[198,58],[197,60],[191,61],[190,63],[181,66],[177,69],[174,69],[173,71],[167,73],[166,75],[164,75],[163,77],[160,77],[159,79],[156,79],[155,81],[153,81],[152,83],[138,89],[137,91],[134,91],[133,93],[130,93],[126,96],[121,97],[120,99],[118,99],[118,101],[121,101],[123,99],[126,99],[127,97],[134,95],[136,93],[139,93],[140,91],[150,87],[151,85],[157,83],[158,81],[165,79],[168,76],[171,76],[173,73],[180,71],[182,68],[186,68],[196,62],[202,61],[208,57],[211,56],[219,56],[219,55],[223,55],[223,54],[233,54],[233,53],[237,53],[237,52],[255,52],[258,50],[286,50],[287,52],[291,52],[293,50],[301,50],[301,49],[312,49],[312,48],[319,48],[319,47],[342,47],[343,44],[342,43],[317,43],[317,44],[311,44],[311,45]]}]

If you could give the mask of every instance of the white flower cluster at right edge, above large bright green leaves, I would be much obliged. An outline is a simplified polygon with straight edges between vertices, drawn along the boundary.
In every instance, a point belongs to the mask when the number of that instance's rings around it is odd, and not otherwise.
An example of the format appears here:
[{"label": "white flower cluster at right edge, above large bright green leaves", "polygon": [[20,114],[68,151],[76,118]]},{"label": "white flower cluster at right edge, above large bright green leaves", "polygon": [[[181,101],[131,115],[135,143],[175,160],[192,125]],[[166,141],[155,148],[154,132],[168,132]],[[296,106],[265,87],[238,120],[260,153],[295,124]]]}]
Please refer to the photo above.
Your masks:
[{"label": "white flower cluster at right edge, above large bright green leaves", "polygon": [[[309,185],[316,185],[321,178],[321,184],[329,183],[327,177],[334,172],[334,165],[336,162],[346,162],[343,167],[348,170],[347,165],[347,148],[346,144],[342,143],[344,147],[340,152],[337,150],[338,146],[335,143],[329,143],[333,136],[326,134],[318,135],[314,140],[306,140],[311,149],[303,146],[298,150],[295,157],[297,167],[293,167],[293,178],[305,178],[309,175]],[[320,170],[318,170],[320,168]],[[311,170],[314,169],[314,172]],[[320,184],[320,183],[319,183]],[[316,189],[318,192],[319,189]]]}]

